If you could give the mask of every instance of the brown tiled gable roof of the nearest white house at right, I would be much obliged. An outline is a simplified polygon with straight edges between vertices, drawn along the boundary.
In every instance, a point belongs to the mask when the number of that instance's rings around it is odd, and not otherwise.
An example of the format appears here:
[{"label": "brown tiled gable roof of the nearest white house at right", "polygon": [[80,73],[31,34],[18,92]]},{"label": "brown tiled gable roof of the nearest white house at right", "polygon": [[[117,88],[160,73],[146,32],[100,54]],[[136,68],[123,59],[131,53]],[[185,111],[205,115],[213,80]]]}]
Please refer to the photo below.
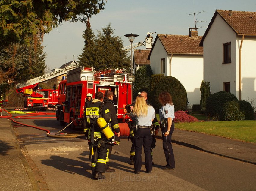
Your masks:
[{"label": "brown tiled gable roof of the nearest white house at right", "polygon": [[256,12],[233,11],[233,10],[216,10],[211,22],[206,29],[204,36],[200,42],[203,46],[204,38],[211,28],[216,16],[220,17],[232,28],[237,35],[256,36]]}]

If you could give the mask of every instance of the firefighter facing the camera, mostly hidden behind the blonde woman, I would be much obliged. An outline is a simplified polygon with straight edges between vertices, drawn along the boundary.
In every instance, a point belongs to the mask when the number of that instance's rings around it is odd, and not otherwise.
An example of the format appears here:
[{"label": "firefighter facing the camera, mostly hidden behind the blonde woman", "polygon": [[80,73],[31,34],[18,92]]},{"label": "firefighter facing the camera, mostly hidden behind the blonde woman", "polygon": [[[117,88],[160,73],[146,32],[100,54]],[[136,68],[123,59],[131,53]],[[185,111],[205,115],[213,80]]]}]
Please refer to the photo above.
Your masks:
[{"label": "firefighter facing the camera, mostly hidden behind the blonde woman", "polygon": [[[147,92],[145,92],[145,91],[142,91],[141,93],[139,92],[139,95],[144,97],[144,99],[146,100],[147,104],[151,106],[151,104],[148,101],[148,94],[147,94]],[[134,106],[133,103],[132,104],[128,104],[128,105],[125,106],[125,109],[127,110],[128,113],[130,113],[130,111],[133,109],[133,106]],[[158,120],[157,120],[156,117],[154,118],[152,124],[153,124],[153,126],[155,128],[155,132],[156,132],[155,134],[157,135],[157,132],[159,130],[159,123],[158,123]],[[133,130],[131,128],[132,122],[129,122],[128,126],[130,128],[130,139],[131,139],[131,142],[132,142],[132,146],[131,146],[131,150],[130,150],[130,165],[133,165],[134,164],[135,147],[134,147],[134,132],[133,132]],[[150,153],[151,153],[151,158],[152,158],[152,164],[154,165],[152,148],[155,148],[155,142],[156,142],[155,135],[152,135],[152,139],[153,139],[153,141],[152,141],[152,145],[151,145],[151,148],[150,148]]]}]

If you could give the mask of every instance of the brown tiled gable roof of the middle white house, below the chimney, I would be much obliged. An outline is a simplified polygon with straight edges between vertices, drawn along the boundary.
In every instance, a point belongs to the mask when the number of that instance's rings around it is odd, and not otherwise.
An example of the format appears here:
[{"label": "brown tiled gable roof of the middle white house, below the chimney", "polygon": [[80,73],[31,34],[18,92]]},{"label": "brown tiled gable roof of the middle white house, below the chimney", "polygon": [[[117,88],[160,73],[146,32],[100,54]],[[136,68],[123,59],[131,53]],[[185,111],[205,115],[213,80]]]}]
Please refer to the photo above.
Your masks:
[{"label": "brown tiled gable roof of the middle white house, below the chimney", "polygon": [[149,58],[158,38],[163,44],[167,54],[203,54],[203,48],[199,46],[202,36],[190,37],[189,35],[157,34],[148,55]]}]

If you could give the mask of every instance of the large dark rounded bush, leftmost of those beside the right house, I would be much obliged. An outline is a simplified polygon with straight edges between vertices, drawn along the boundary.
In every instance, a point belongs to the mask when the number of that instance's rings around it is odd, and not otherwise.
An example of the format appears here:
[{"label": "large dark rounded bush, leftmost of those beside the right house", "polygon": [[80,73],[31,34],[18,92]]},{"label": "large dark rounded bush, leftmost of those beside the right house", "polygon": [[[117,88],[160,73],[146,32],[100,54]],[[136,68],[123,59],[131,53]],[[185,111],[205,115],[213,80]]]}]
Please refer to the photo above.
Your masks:
[{"label": "large dark rounded bush, leftmost of those beside the right house", "polygon": [[211,94],[206,100],[206,113],[211,116],[222,119],[223,105],[228,101],[238,101],[234,94],[226,91],[216,92]]}]

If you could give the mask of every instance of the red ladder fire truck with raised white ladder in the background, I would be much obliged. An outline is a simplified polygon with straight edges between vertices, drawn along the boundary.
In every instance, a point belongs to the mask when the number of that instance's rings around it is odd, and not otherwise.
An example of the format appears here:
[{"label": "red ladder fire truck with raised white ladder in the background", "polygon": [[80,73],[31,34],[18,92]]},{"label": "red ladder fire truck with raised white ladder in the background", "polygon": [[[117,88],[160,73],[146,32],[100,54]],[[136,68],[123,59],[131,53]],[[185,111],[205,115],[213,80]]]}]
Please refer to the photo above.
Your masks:
[{"label": "red ladder fire truck with raised white ladder in the background", "polygon": [[56,105],[58,98],[58,90],[56,87],[53,89],[40,89],[39,83],[45,82],[49,79],[66,74],[69,70],[80,67],[78,64],[68,66],[64,69],[30,79],[26,82],[21,82],[16,86],[16,92],[22,94],[24,99],[24,108],[17,108],[15,110],[24,109],[53,109]]}]

